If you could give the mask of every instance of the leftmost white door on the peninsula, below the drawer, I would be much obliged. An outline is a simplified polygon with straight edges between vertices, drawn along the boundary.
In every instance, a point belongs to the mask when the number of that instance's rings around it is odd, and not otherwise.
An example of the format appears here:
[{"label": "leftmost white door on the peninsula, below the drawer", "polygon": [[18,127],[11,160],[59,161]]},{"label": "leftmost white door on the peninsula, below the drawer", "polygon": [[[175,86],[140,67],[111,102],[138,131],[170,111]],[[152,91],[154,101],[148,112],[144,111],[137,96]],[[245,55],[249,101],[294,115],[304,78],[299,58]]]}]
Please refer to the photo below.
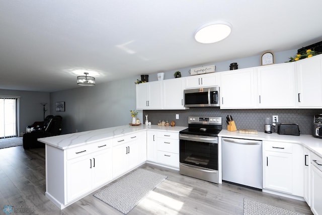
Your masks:
[{"label": "leftmost white door on the peninsula, below the drawer", "polygon": [[93,160],[82,156],[66,163],[67,202],[70,202],[92,189]]}]

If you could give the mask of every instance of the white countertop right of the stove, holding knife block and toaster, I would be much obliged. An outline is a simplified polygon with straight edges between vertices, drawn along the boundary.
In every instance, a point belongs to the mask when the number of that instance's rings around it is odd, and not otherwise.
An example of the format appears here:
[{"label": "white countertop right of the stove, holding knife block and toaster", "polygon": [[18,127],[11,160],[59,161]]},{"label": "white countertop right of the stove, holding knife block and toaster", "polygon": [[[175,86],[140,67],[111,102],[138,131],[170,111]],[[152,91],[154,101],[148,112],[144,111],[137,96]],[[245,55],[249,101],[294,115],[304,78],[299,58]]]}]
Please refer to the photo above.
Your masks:
[{"label": "white countertop right of the stove, holding knife block and toaster", "polygon": [[294,135],[280,135],[278,133],[258,132],[258,134],[239,133],[238,131],[221,130],[218,134],[220,137],[232,137],[241,139],[256,139],[267,141],[290,142],[294,144],[301,144],[318,156],[322,157],[322,139],[315,138],[312,135],[301,134]]}]

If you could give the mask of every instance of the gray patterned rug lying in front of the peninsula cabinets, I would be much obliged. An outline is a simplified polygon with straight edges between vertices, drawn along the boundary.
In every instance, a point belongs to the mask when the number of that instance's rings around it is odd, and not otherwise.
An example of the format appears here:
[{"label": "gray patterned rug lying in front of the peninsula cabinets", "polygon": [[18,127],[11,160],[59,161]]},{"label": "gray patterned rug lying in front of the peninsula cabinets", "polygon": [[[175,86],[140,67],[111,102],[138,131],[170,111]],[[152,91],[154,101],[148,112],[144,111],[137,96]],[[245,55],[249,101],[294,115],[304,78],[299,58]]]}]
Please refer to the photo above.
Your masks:
[{"label": "gray patterned rug lying in front of the peninsula cabinets", "polygon": [[166,178],[168,176],[137,169],[114,184],[95,193],[94,196],[127,214]]}]

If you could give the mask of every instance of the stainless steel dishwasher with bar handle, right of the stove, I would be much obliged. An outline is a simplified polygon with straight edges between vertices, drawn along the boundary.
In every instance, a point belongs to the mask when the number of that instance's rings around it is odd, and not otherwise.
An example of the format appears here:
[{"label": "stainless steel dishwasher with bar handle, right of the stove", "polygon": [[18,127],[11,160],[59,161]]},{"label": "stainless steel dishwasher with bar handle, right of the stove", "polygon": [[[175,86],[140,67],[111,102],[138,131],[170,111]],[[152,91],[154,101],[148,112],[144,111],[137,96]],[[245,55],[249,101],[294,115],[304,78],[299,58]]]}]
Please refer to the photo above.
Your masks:
[{"label": "stainless steel dishwasher with bar handle, right of the stove", "polygon": [[263,189],[261,140],[221,139],[222,180]]}]

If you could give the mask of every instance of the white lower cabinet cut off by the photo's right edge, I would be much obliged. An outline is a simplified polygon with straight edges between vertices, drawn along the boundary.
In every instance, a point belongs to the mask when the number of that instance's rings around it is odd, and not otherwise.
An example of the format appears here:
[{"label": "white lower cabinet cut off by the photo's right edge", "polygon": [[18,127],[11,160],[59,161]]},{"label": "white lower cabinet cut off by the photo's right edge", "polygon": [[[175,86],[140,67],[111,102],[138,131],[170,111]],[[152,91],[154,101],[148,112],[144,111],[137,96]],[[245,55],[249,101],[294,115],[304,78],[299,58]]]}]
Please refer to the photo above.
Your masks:
[{"label": "white lower cabinet cut off by the photo's right edge", "polygon": [[322,214],[322,158],[311,153],[311,210],[315,215]]}]

